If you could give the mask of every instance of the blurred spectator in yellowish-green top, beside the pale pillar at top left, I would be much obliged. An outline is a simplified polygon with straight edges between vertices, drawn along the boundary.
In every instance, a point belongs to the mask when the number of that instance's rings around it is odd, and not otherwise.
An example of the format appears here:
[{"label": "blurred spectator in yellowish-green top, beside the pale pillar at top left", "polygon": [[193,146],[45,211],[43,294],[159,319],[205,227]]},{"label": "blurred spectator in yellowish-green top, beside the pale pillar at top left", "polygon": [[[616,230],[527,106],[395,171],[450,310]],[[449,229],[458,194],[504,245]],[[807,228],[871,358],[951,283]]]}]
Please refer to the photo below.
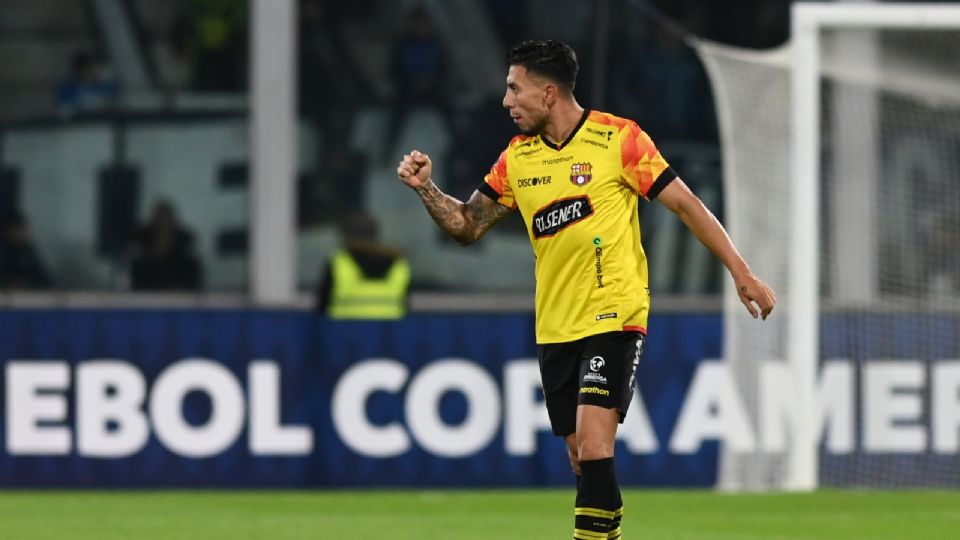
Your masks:
[{"label": "blurred spectator in yellowish-green top, beside the pale pillar at top left", "polygon": [[189,60],[193,90],[246,89],[246,13],[243,0],[186,0],[173,31],[173,50]]}]

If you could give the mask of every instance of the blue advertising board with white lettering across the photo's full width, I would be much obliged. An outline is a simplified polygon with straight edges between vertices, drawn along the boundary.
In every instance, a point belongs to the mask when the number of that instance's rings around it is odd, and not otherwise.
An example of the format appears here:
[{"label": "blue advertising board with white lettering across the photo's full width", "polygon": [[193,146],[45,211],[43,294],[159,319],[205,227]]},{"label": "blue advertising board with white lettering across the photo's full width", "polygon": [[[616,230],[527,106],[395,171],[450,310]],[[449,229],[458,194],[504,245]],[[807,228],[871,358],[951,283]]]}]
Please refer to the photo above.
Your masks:
[{"label": "blue advertising board with white lettering across the photo's full width", "polygon": [[[880,338],[858,358],[824,341],[822,462],[892,460],[917,485],[948,485],[936,471],[960,465],[960,317],[824,321],[845,324]],[[898,328],[931,324],[947,331],[925,343],[930,358],[884,360],[887,345],[911,343]],[[709,487],[720,444],[783,450],[782,361],[764,366],[769,414],[753,425],[716,360],[718,313],[661,313],[650,328],[620,431],[623,484]],[[529,314],[3,311],[0,487],[569,485],[532,336]]]}]

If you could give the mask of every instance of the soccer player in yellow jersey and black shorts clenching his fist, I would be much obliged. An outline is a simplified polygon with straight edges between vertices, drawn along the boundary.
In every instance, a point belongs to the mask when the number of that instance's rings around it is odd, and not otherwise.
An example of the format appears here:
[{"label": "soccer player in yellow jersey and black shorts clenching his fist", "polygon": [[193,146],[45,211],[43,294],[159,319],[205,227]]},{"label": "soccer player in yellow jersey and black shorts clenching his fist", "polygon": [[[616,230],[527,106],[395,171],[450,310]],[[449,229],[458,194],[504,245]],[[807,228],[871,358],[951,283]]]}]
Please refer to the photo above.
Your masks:
[{"label": "soccer player in yellow jersey and black shorts clenching his fist", "polygon": [[638,196],[658,199],[723,262],[754,318],[766,319],[776,298],[635,122],[577,103],[579,66],[569,46],[527,41],[507,60],[503,106],[520,135],[470,200],[437,188],[423,152],[405,155],[397,175],[464,245],[519,208],[537,259],[536,337],[547,411],[577,476],[573,537],[620,538],[614,442],[633,395],[650,308]]}]

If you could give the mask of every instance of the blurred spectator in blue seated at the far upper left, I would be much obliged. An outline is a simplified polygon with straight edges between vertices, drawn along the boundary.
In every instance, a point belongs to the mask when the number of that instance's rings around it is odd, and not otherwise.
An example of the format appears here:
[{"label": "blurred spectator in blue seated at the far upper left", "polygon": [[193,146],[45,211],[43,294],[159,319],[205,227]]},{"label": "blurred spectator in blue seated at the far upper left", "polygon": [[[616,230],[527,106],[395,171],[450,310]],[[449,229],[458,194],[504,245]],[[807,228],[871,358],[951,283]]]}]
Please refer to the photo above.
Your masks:
[{"label": "blurred spectator in blue seated at the far upper left", "polygon": [[88,52],[78,52],[70,61],[69,76],[57,85],[57,108],[72,116],[110,108],[120,94],[103,62]]}]

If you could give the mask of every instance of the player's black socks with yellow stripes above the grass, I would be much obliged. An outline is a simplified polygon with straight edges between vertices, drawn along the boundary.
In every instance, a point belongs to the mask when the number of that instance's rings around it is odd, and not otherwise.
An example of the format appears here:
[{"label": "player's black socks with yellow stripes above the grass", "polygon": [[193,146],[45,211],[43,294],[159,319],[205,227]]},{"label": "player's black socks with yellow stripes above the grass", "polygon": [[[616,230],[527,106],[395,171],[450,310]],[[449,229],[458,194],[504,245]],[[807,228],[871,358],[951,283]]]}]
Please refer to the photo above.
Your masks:
[{"label": "player's black socks with yellow stripes above the grass", "polygon": [[[620,537],[623,503],[613,458],[581,461],[573,537],[580,540]],[[608,536],[613,534],[614,536]]]}]

